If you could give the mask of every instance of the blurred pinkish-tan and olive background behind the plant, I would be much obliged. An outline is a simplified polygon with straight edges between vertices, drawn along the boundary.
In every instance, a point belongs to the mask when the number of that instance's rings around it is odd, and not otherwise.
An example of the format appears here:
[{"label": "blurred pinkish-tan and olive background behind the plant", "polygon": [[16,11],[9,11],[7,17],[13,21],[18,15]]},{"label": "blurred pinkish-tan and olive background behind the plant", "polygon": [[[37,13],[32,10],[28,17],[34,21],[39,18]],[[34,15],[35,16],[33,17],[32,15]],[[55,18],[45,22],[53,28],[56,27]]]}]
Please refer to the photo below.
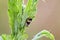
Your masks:
[{"label": "blurred pinkish-tan and olive background behind the plant", "polygon": [[[27,0],[25,0],[26,3]],[[8,23],[8,0],[0,0],[0,35],[10,34]],[[35,20],[27,29],[31,40],[35,34],[46,29],[54,34],[56,40],[60,40],[60,0],[39,0]],[[49,40],[46,37],[41,40]]]}]

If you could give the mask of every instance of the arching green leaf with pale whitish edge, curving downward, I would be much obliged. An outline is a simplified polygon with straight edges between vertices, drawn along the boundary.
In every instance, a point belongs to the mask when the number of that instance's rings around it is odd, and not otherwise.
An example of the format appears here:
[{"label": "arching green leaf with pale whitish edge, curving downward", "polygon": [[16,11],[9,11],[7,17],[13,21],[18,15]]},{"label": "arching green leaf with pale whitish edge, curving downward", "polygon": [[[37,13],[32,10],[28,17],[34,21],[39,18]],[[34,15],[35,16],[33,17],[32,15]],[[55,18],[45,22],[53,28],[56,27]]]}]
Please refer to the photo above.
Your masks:
[{"label": "arching green leaf with pale whitish edge, curving downward", "polygon": [[32,40],[38,40],[38,39],[40,39],[43,36],[45,36],[47,38],[50,38],[50,40],[55,40],[53,34],[51,34],[47,30],[42,30],[41,32],[37,33]]}]

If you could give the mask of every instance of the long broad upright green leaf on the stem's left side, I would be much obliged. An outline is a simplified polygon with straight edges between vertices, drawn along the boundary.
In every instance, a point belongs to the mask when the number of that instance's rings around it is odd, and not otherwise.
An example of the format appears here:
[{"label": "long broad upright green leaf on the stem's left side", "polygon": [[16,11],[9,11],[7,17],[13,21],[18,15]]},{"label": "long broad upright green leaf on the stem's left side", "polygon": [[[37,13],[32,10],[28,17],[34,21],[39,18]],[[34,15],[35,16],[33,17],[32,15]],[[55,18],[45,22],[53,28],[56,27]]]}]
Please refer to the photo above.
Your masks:
[{"label": "long broad upright green leaf on the stem's left side", "polygon": [[22,15],[22,0],[8,0],[8,15],[12,35],[18,33],[18,27],[21,22]]}]

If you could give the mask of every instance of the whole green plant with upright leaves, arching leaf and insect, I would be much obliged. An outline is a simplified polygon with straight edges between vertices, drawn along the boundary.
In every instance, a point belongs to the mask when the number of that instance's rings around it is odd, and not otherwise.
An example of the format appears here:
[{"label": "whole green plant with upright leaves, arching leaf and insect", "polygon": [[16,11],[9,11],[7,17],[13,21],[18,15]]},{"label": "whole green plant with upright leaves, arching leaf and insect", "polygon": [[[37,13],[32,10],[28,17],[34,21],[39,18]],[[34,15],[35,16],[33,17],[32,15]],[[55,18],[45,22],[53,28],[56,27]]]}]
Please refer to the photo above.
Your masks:
[{"label": "whole green plant with upright leaves, arching leaf and insect", "polygon": [[[0,40],[27,40],[26,28],[35,18],[37,0],[8,0],[8,16],[11,34],[2,34]],[[55,40],[54,36],[47,30],[37,33],[32,40],[38,40],[41,37],[48,37]]]}]

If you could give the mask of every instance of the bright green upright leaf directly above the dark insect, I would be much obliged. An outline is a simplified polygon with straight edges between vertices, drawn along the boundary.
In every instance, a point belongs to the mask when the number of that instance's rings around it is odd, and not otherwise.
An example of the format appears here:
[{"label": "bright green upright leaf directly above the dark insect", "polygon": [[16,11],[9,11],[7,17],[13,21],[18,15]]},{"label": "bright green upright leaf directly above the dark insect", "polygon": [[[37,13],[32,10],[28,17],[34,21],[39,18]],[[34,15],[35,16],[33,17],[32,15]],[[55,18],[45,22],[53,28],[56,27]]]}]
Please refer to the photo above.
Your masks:
[{"label": "bright green upright leaf directly above the dark insect", "polygon": [[34,18],[36,12],[37,0],[28,0],[25,13],[28,14],[28,17]]}]

